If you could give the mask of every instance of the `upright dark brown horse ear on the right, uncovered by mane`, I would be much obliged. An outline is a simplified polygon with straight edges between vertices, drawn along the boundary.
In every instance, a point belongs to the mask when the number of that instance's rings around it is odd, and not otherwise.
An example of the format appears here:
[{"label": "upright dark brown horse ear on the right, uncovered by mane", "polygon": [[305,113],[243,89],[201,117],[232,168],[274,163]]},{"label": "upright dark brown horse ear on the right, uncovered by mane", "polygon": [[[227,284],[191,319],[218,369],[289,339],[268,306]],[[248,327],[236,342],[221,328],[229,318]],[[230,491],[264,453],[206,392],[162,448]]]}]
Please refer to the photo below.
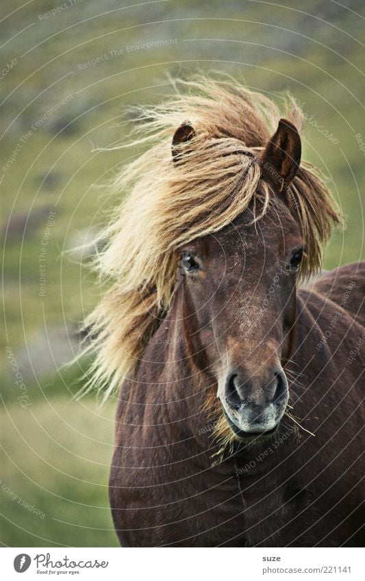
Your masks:
[{"label": "upright dark brown horse ear on the right, uncovered by mane", "polygon": [[261,155],[263,175],[282,192],[297,175],[300,163],[301,138],[297,127],[287,119],[280,119],[277,130]]}]

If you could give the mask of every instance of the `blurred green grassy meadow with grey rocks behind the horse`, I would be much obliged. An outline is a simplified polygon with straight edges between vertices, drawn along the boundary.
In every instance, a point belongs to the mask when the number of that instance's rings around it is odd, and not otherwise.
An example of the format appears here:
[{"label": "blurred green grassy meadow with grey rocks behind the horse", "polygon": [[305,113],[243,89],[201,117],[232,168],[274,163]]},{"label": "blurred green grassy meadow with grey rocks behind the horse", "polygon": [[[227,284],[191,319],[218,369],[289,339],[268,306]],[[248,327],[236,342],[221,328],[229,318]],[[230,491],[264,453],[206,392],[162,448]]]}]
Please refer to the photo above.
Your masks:
[{"label": "blurred green grassy meadow with grey rocks behind the horse", "polygon": [[88,362],[66,363],[101,293],[88,262],[118,202],[101,186],[136,155],[116,148],[126,107],[165,99],[167,73],[229,73],[277,103],[290,90],[306,118],[303,157],[347,216],[324,266],[364,258],[364,3],[2,0],[0,10],[0,541],[116,546],[115,400],[77,400]]}]

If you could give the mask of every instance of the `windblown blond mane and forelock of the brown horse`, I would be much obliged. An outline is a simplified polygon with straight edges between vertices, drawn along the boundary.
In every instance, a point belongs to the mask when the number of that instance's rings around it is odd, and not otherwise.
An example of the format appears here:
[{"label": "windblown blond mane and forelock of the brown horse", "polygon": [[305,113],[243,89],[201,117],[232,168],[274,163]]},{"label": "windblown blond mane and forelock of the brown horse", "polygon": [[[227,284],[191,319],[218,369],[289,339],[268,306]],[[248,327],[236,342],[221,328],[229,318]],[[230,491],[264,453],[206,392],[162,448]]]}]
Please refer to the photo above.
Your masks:
[{"label": "windblown blond mane and forelock of the brown horse", "polygon": [[[273,101],[204,76],[174,87],[170,101],[136,109],[128,146],[149,147],[112,183],[123,203],[101,233],[107,244],[95,259],[111,285],[85,321],[92,338],[87,350],[97,352],[86,389],[103,389],[105,399],[138,363],[171,305],[179,247],[222,229],[249,205],[259,208],[254,220],[260,220],[277,198],[258,157],[281,118]],[[301,130],[303,115],[290,96],[285,116]],[[186,120],[196,135],[181,144],[181,161],[174,164],[172,136]],[[305,240],[305,278],[320,268],[323,244],[340,215],[318,170],[306,162],[289,194]]]}]

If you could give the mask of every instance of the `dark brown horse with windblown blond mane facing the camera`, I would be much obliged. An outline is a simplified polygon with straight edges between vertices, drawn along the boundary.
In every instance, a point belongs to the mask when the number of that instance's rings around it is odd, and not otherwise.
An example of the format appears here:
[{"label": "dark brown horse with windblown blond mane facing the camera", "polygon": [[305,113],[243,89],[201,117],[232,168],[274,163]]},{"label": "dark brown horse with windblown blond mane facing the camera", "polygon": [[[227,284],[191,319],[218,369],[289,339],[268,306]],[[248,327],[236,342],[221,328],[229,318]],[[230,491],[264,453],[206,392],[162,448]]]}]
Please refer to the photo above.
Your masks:
[{"label": "dark brown horse with windblown blond mane facing the camera", "polygon": [[364,543],[365,263],[321,272],[342,216],[281,110],[204,76],[138,110],[86,321],[124,547]]}]

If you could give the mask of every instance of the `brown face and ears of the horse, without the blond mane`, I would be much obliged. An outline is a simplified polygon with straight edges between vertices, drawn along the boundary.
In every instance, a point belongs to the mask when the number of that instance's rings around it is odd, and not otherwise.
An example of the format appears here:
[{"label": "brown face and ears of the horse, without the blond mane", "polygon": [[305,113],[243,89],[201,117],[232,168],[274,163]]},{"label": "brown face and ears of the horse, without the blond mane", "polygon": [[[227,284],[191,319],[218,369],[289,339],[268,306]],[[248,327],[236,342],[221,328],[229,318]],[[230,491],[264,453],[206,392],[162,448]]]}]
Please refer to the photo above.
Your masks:
[{"label": "brown face and ears of the horse, without the blond mane", "polygon": [[[177,129],[175,160],[179,139],[186,143],[193,136],[188,124]],[[203,372],[216,383],[216,396],[238,437],[273,432],[288,404],[285,363],[305,254],[288,188],[300,159],[299,133],[281,119],[260,155],[253,156],[270,184],[264,216],[255,220],[263,210],[259,201],[221,231],[179,248],[184,276],[177,297],[184,305],[184,333]]]}]

